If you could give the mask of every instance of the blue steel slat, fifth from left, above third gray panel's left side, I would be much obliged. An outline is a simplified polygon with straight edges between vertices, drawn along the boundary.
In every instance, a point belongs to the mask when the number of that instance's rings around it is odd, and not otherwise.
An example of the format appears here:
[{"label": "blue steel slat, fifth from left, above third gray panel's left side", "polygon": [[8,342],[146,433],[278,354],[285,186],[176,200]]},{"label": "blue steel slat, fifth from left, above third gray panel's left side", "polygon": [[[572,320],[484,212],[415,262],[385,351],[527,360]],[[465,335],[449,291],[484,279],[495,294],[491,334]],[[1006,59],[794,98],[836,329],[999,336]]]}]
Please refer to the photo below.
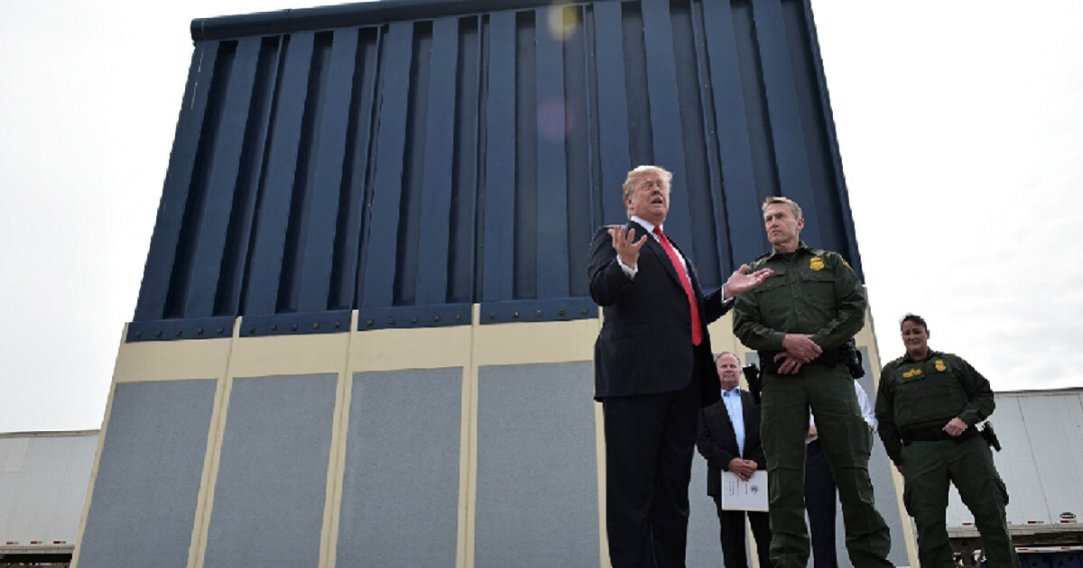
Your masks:
[{"label": "blue steel slat, fifth from left, above third gray panel's left side", "polygon": [[379,130],[374,157],[376,176],[373,183],[369,230],[365,239],[367,256],[361,307],[391,306],[395,301],[399,217],[413,47],[412,22],[395,22],[389,26],[382,66]]}]

